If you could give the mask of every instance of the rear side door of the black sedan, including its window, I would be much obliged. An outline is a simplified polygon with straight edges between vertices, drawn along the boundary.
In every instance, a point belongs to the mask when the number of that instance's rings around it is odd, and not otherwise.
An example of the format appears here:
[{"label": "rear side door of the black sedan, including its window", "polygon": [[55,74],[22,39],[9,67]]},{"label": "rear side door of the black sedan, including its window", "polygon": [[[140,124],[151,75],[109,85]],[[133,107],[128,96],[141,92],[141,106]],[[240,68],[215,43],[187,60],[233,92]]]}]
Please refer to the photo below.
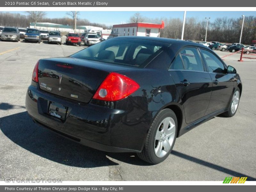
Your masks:
[{"label": "rear side door of the black sedan, including its window", "polygon": [[210,102],[212,80],[198,49],[187,47],[181,50],[168,71],[180,94],[186,123],[203,117]]}]

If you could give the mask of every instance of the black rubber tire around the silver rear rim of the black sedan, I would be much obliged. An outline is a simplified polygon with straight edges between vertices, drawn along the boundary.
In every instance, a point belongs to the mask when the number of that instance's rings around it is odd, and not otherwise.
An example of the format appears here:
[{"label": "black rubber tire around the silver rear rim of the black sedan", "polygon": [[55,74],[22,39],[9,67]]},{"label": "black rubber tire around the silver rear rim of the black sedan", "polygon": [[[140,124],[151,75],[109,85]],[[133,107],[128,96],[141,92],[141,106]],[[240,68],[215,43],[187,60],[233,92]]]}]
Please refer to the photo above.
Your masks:
[{"label": "black rubber tire around the silver rear rim of the black sedan", "polygon": [[[175,135],[174,139],[172,142],[172,146],[170,150],[165,154],[163,157],[157,157],[155,154],[155,136],[156,136],[156,131],[158,130],[159,126],[161,125],[161,122],[166,118],[166,117],[171,117],[174,122],[175,122]],[[175,113],[171,109],[163,109],[161,110],[156,118],[154,119],[153,123],[151,124],[148,135],[144,144],[144,148],[142,149],[141,153],[137,153],[138,157],[142,159],[143,161],[146,161],[150,164],[158,164],[163,162],[170,154],[172,151],[172,148],[174,146],[176,136],[177,136],[177,128],[178,128],[178,123],[177,123],[177,117]]]}]

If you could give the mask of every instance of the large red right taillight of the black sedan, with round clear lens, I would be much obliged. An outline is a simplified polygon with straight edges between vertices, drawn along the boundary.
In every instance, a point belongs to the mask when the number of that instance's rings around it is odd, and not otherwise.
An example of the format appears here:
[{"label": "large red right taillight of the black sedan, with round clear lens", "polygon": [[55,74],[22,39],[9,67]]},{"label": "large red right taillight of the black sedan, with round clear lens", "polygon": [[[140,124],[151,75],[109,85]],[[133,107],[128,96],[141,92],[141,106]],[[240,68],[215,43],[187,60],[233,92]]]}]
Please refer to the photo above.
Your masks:
[{"label": "large red right taillight of the black sedan, with round clear lens", "polygon": [[140,85],[129,77],[118,73],[110,73],[100,84],[93,99],[117,101],[131,95],[139,88]]}]

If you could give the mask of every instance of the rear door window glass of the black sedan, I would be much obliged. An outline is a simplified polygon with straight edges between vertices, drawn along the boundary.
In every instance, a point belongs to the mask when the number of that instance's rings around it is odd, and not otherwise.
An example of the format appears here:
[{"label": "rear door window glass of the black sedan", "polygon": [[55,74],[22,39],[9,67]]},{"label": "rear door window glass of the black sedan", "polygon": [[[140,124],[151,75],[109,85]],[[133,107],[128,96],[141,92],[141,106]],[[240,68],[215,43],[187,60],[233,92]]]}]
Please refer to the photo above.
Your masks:
[{"label": "rear door window glass of the black sedan", "polygon": [[185,48],[180,52],[184,69],[189,71],[204,71],[201,57],[196,48]]}]

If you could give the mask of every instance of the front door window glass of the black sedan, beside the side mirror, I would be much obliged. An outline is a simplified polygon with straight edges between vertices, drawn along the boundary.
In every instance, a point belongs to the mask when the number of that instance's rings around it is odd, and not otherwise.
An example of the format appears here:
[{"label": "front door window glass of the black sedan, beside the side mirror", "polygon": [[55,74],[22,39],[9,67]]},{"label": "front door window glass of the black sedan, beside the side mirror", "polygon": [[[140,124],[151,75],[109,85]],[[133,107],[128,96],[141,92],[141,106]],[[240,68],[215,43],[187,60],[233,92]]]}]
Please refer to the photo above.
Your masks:
[{"label": "front door window glass of the black sedan, beside the side mirror", "polygon": [[223,63],[214,54],[204,49],[201,49],[205,63],[211,73],[226,73]]}]

